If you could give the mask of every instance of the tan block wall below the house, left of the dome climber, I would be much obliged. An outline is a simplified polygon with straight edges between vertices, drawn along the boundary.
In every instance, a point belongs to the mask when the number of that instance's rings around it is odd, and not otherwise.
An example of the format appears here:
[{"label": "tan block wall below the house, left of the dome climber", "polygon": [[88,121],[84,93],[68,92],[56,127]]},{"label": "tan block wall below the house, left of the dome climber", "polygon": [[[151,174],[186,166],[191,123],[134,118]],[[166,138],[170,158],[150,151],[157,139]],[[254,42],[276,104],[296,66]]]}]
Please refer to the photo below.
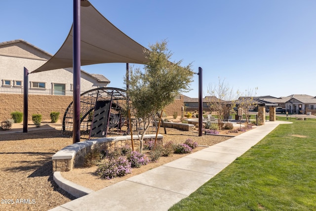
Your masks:
[{"label": "tan block wall below the house, left of the dome climber", "polygon": [[[32,114],[41,114],[42,120],[50,120],[52,111],[60,112],[59,119],[73,101],[73,96],[61,95],[29,95],[28,120],[32,120]],[[0,121],[11,118],[11,112],[23,112],[23,94],[0,93]]]}]

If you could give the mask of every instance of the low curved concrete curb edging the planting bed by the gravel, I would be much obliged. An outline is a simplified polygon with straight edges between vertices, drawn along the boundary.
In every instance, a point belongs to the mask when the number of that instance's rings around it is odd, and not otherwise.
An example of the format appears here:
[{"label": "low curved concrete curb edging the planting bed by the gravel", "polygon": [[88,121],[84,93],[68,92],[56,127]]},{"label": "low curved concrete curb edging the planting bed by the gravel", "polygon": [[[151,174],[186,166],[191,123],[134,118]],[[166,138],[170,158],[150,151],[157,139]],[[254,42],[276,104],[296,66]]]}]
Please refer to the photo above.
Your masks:
[{"label": "low curved concrete curb edging the planting bed by the gravel", "polygon": [[71,181],[65,179],[61,175],[60,171],[55,171],[53,173],[53,179],[60,188],[67,191],[68,193],[70,193],[71,195],[73,195],[76,198],[79,198],[81,196],[85,196],[85,195],[88,195],[88,194],[94,192],[93,190],[91,190],[89,188],[83,187],[81,185],[78,185],[74,182],[71,182]]}]

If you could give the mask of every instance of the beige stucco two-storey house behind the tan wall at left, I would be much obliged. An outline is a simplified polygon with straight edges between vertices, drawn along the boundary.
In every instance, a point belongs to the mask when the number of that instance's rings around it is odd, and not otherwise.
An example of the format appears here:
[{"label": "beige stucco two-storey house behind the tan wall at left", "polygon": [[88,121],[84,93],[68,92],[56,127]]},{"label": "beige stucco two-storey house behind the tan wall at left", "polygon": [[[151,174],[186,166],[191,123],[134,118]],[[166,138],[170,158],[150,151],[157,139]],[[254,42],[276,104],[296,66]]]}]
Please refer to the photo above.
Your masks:
[{"label": "beige stucco two-storey house behind the tan wall at left", "polygon": [[[0,42],[0,93],[23,93],[24,67],[36,70],[51,54],[23,40]],[[100,74],[81,70],[81,92],[105,87],[110,81]],[[73,69],[57,69],[29,74],[29,93],[72,95]]]}]

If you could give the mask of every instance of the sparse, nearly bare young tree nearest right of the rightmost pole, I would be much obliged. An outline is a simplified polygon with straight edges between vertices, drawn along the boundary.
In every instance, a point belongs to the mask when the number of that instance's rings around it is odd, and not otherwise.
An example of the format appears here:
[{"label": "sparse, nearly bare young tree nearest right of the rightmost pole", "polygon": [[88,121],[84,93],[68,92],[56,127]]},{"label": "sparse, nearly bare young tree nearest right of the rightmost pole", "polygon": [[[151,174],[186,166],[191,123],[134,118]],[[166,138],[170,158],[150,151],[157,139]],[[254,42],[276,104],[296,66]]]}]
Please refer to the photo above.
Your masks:
[{"label": "sparse, nearly bare young tree nearest right of the rightmost pole", "polygon": [[208,106],[211,111],[217,114],[218,128],[222,129],[224,117],[229,115],[231,109],[235,107],[237,93],[233,87],[225,83],[225,80],[218,78],[218,84],[210,84],[207,88]]}]

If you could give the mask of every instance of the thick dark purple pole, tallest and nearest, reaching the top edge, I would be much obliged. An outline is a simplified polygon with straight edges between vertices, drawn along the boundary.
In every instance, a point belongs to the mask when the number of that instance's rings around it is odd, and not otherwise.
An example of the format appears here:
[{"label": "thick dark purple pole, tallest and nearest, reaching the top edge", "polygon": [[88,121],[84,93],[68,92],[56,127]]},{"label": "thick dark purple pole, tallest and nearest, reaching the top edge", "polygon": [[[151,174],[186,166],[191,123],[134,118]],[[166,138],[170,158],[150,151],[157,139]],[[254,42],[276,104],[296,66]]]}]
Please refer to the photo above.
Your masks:
[{"label": "thick dark purple pole, tallest and nearest, reaching the top edge", "polygon": [[80,142],[80,0],[74,0],[73,80],[74,120],[73,143]]}]

